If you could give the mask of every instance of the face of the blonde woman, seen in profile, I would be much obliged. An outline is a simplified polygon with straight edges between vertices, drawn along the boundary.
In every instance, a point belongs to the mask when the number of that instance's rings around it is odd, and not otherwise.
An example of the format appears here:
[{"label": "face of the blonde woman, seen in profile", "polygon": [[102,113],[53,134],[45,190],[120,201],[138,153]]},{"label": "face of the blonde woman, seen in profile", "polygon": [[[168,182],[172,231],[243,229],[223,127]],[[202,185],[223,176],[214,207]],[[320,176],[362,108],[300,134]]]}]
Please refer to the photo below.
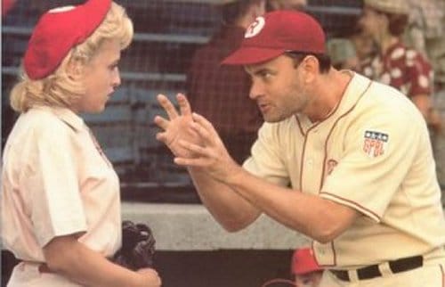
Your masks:
[{"label": "face of the blonde woman, seen in profile", "polygon": [[120,51],[117,40],[106,40],[93,59],[85,65],[83,70],[85,94],[75,105],[77,112],[97,113],[105,109],[109,97],[120,85],[117,68]]}]

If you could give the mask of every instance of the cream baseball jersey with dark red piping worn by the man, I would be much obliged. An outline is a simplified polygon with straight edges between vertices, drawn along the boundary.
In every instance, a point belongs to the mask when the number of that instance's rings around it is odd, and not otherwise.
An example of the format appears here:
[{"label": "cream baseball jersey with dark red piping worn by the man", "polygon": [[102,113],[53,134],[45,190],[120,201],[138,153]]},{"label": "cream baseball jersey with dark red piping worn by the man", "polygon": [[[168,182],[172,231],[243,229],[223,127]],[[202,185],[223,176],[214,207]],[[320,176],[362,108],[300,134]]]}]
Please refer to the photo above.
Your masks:
[{"label": "cream baseball jersey with dark red piping worn by the man", "polygon": [[333,242],[313,242],[322,266],[367,266],[445,243],[425,120],[396,89],[359,74],[327,119],[264,123],[243,167],[360,212]]}]

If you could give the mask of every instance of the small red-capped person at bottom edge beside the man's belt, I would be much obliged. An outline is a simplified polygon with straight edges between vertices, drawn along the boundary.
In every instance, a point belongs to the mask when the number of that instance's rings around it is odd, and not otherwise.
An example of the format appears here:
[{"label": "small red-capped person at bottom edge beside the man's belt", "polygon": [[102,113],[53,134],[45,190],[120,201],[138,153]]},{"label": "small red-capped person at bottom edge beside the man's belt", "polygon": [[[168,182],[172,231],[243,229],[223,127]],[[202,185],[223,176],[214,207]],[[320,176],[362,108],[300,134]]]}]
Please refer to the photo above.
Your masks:
[{"label": "small red-capped person at bottom edge beside the man's belt", "polygon": [[315,260],[310,247],[295,250],[291,272],[295,275],[296,287],[317,287],[323,275],[323,269]]}]

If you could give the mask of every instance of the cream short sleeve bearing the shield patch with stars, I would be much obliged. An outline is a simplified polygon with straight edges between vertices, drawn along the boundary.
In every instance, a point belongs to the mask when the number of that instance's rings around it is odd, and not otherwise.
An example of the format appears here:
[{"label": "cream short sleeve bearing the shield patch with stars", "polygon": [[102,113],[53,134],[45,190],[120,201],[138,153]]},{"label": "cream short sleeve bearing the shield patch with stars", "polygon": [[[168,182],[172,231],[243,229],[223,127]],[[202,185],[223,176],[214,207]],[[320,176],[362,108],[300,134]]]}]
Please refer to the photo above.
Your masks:
[{"label": "cream short sleeve bearing the shield patch with stars", "polygon": [[[418,152],[422,121],[413,109],[368,112],[350,127],[344,155],[327,176],[320,196],[379,222]],[[407,116],[409,112],[413,115]]]}]

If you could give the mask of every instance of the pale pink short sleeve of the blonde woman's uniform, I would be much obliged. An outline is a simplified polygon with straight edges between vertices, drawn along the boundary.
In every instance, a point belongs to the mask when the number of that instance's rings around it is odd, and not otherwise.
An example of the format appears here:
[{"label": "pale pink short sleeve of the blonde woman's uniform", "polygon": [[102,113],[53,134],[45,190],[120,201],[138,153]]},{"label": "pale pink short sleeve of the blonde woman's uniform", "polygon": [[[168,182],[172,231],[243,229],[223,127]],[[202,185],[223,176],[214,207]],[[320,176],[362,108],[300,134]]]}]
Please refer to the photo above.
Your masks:
[{"label": "pale pink short sleeve of the blonde woman's uniform", "polygon": [[[31,198],[30,217],[41,247],[53,237],[85,232],[85,213],[77,179],[75,133],[63,122],[37,127],[28,168],[21,178]],[[46,122],[48,124],[48,121]]]}]

